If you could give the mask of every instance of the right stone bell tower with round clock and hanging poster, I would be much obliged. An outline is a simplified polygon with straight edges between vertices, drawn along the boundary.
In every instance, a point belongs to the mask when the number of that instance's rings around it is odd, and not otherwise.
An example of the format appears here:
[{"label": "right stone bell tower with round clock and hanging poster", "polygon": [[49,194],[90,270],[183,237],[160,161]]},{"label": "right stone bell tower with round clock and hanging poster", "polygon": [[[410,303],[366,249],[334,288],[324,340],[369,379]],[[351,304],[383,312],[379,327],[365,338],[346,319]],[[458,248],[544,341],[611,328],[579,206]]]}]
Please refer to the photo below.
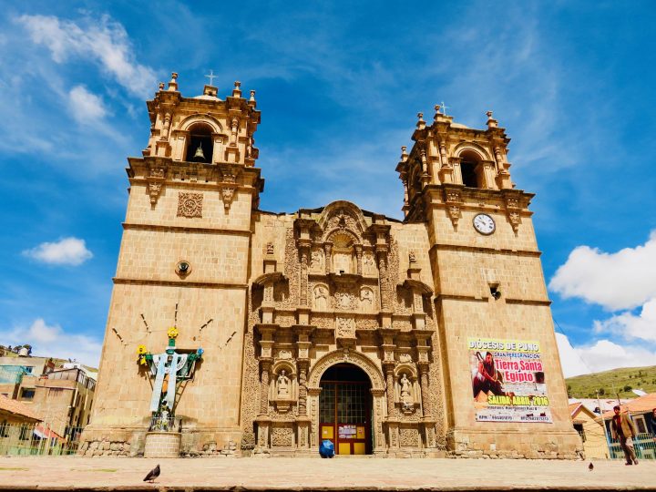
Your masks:
[{"label": "right stone bell tower with round clock and hanging poster", "polygon": [[405,223],[425,223],[428,232],[447,449],[575,456],[579,438],[528,210],[534,195],[510,179],[506,131],[491,111],[487,128],[473,129],[437,106],[431,123],[418,115],[412,138],[396,170]]}]

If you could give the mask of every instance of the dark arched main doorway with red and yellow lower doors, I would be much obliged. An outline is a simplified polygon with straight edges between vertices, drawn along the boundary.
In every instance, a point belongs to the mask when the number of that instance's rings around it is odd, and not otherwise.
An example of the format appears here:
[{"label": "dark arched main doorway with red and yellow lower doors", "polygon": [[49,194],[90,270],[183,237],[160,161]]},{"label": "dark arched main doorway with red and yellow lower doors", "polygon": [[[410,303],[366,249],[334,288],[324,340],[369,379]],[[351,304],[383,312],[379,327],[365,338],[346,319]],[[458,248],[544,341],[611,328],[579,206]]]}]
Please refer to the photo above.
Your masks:
[{"label": "dark arched main doorway with red and yellow lower doors", "polygon": [[334,364],[322,375],[319,439],[337,455],[371,455],[373,397],[369,376],[354,364]]}]

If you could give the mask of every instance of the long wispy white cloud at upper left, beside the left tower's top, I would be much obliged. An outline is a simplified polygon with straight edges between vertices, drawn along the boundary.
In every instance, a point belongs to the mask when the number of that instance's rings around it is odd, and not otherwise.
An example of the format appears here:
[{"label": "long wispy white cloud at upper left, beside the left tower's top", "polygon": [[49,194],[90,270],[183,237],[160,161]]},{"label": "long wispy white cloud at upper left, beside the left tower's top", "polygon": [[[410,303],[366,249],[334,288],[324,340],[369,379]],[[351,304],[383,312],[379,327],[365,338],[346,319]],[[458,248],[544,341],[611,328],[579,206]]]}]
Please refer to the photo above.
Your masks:
[{"label": "long wispy white cloud at upper left, beside the left tower's top", "polygon": [[85,18],[79,25],[54,15],[21,15],[17,22],[26,27],[33,42],[50,50],[56,63],[69,56],[90,58],[132,94],[147,97],[154,90],[155,72],[135,61],[128,33],[108,15],[97,21]]}]

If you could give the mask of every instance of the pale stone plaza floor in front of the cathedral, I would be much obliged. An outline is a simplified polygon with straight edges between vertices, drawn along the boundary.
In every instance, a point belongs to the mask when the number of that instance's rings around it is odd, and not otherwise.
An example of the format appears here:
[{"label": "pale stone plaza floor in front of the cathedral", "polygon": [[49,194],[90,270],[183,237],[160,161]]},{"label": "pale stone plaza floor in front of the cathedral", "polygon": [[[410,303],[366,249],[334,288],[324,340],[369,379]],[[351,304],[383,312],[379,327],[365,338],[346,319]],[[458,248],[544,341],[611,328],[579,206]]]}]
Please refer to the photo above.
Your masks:
[{"label": "pale stone plaza floor in front of the cathedral", "polygon": [[[0,457],[0,490],[656,490],[656,462]],[[154,484],[143,482],[159,464]]]}]

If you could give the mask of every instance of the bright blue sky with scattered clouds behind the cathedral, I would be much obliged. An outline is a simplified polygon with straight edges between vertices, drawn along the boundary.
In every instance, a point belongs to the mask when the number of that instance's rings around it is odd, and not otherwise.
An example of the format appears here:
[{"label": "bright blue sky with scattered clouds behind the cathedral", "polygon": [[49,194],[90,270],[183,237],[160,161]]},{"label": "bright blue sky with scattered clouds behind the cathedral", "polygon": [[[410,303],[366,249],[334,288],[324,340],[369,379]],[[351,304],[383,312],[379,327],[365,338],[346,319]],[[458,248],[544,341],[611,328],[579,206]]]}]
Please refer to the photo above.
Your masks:
[{"label": "bright blue sky with scattered clouds behind the cathedral", "polygon": [[494,110],[566,374],[656,362],[651,2],[0,2],[0,343],[97,362],[145,99],[257,91],[261,207],[401,218],[416,113]]}]

